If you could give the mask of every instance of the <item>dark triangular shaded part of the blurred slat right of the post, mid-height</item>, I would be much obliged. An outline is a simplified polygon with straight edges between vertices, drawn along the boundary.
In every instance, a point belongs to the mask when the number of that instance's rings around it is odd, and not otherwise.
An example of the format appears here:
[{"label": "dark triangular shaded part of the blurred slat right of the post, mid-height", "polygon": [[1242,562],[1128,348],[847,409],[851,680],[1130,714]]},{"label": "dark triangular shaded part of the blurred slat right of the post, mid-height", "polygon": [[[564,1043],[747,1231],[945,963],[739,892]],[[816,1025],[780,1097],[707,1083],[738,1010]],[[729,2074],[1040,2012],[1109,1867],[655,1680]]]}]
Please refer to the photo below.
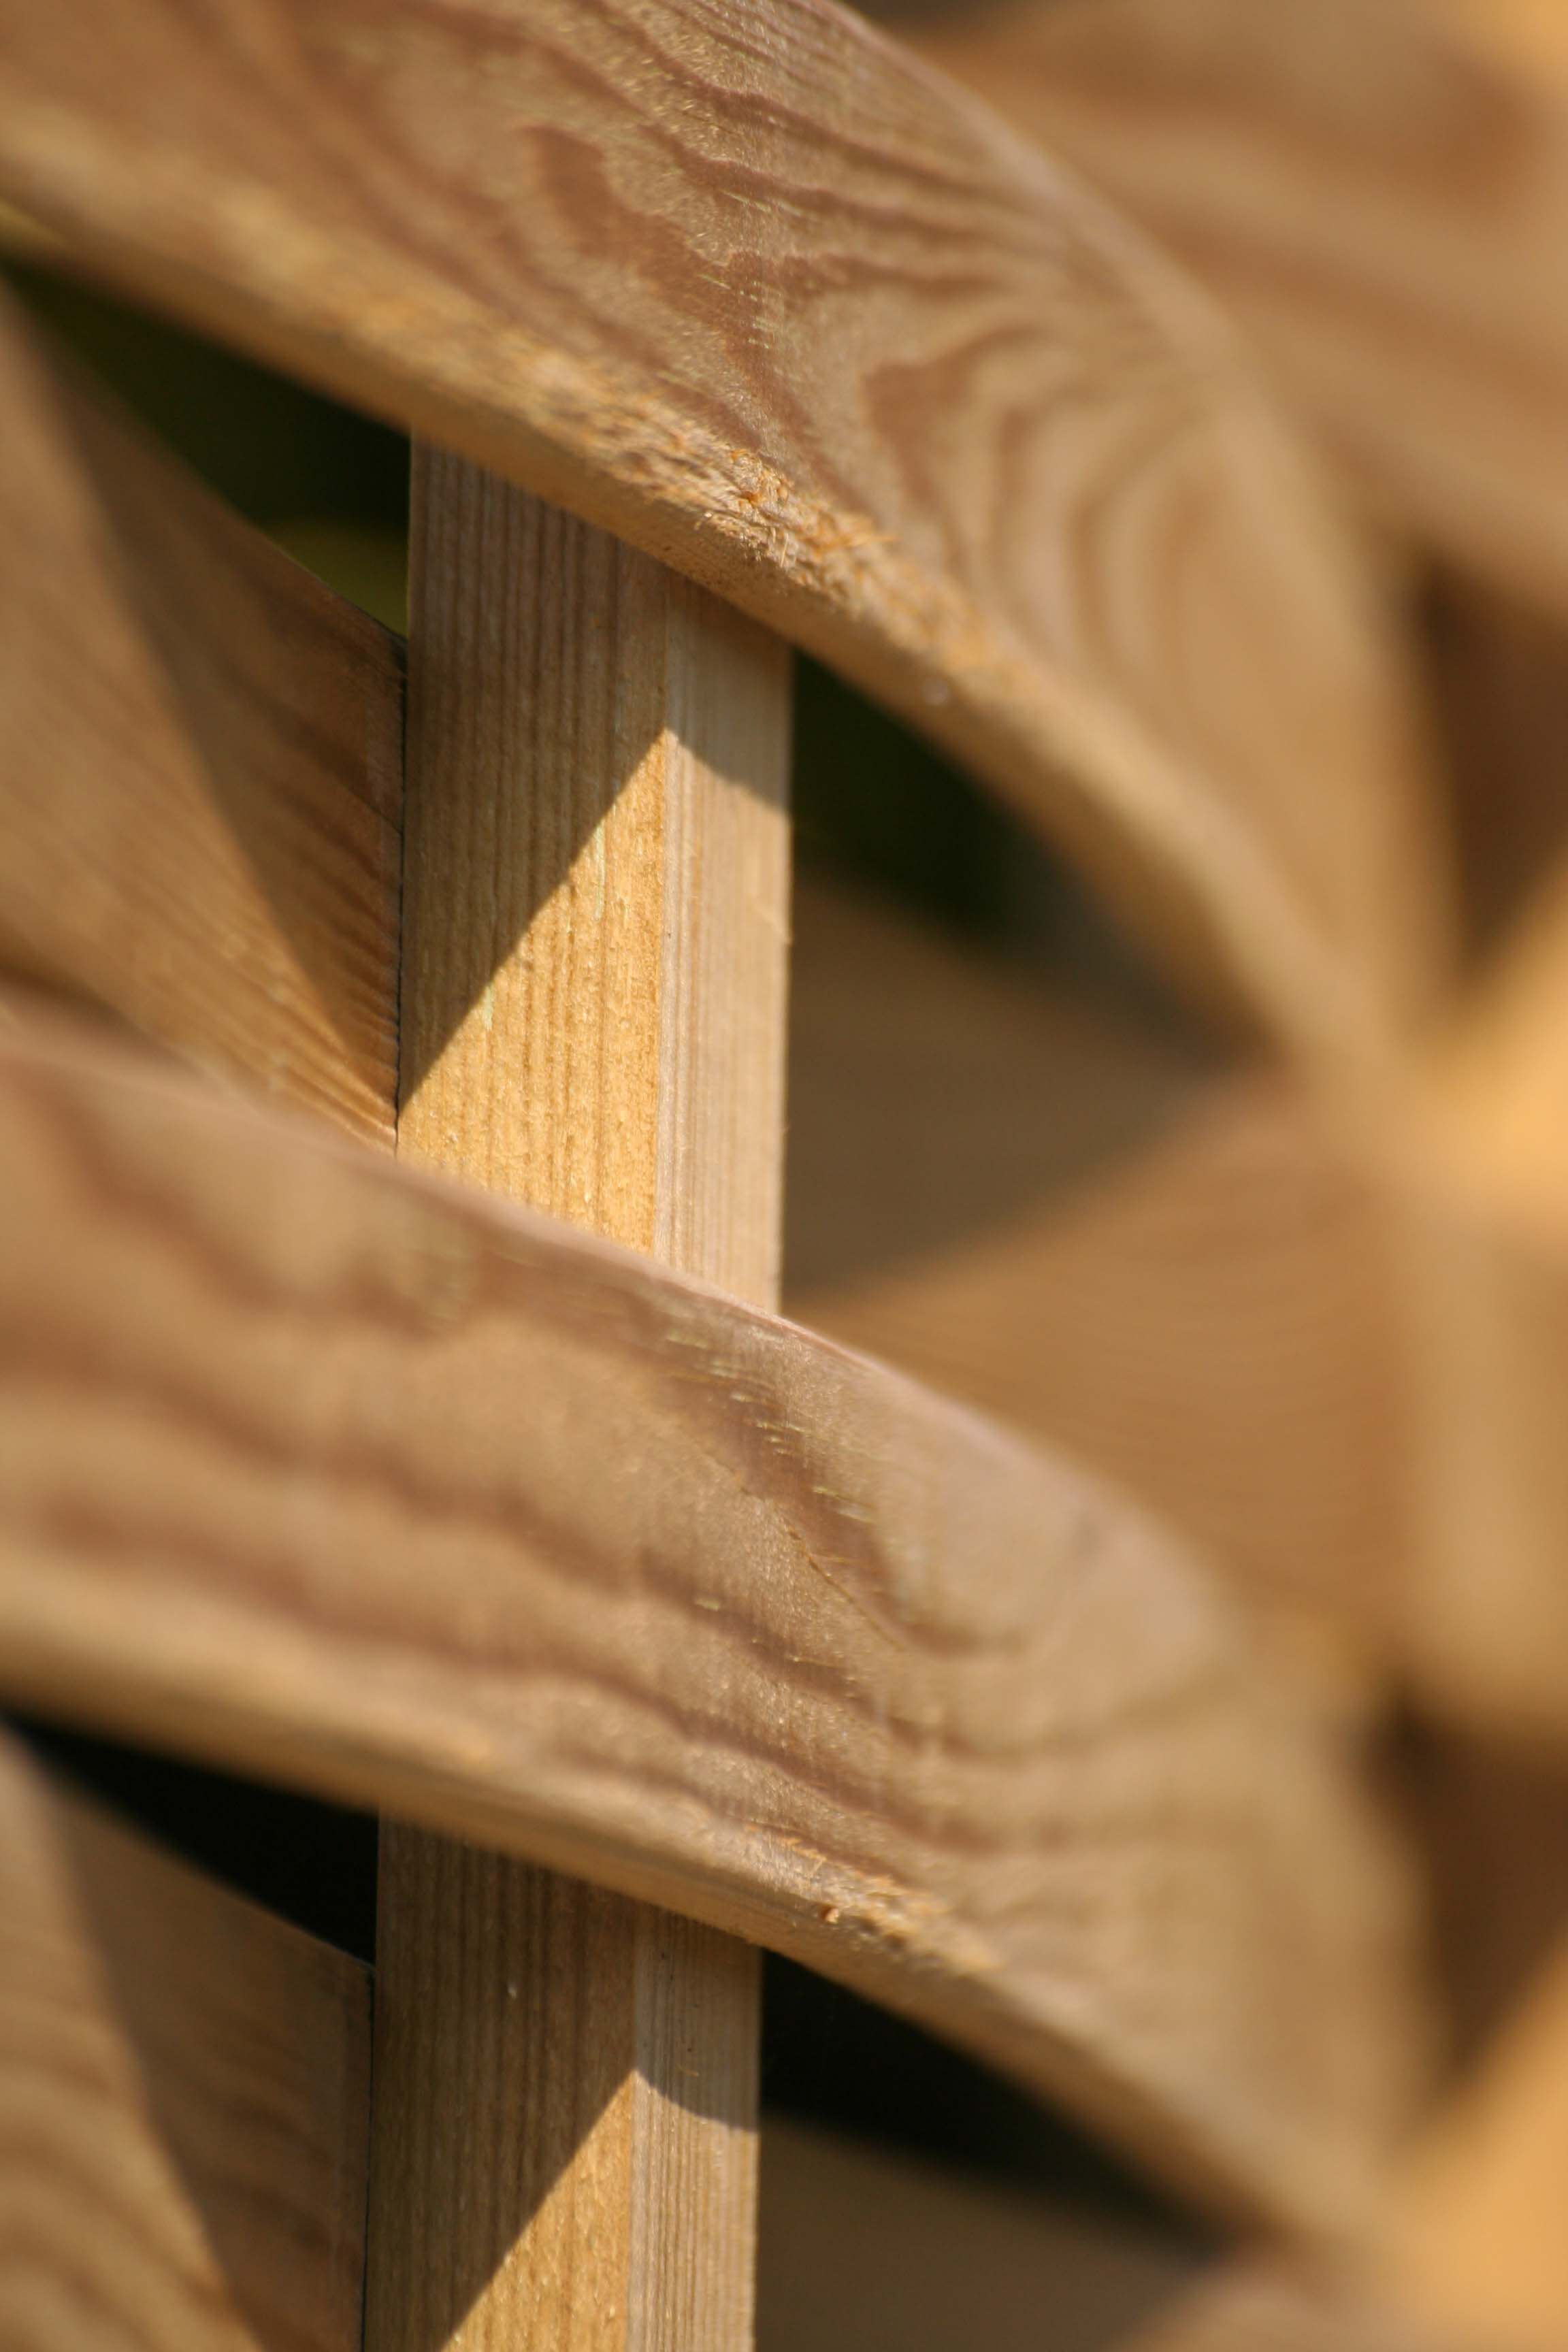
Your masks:
[{"label": "dark triangular shaded part of the blurred slat right of the post, mid-height", "polygon": [[917,1272],[1093,1185],[1178,1124],[1218,1070],[1147,1007],[811,870],[795,875],[792,934],[795,1301]]}]

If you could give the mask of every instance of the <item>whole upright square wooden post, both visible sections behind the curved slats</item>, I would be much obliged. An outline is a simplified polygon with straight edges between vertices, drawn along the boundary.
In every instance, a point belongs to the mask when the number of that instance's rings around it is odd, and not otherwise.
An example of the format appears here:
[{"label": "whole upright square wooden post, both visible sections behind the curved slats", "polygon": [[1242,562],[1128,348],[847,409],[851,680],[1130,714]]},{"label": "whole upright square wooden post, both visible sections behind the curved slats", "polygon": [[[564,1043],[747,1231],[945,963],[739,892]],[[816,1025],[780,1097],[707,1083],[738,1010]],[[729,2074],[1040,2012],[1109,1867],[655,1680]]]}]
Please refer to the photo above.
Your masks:
[{"label": "whole upright square wooden post, both visible sections behind the curved slats", "polygon": [[[414,468],[400,1150],[771,1303],[788,652]],[[757,1964],[388,1825],[369,2352],[750,2340]]]}]

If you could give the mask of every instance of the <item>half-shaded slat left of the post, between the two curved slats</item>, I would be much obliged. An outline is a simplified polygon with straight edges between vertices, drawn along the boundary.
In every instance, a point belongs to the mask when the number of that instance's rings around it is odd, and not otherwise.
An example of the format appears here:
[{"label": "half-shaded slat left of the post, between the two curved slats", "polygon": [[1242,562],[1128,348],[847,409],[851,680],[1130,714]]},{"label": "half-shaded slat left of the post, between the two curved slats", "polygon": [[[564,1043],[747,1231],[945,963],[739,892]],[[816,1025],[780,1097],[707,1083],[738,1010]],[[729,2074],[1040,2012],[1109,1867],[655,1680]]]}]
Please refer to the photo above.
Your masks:
[{"label": "half-shaded slat left of the post, between the two curved slats", "polygon": [[402,677],[0,292],[0,964],[390,1143]]}]

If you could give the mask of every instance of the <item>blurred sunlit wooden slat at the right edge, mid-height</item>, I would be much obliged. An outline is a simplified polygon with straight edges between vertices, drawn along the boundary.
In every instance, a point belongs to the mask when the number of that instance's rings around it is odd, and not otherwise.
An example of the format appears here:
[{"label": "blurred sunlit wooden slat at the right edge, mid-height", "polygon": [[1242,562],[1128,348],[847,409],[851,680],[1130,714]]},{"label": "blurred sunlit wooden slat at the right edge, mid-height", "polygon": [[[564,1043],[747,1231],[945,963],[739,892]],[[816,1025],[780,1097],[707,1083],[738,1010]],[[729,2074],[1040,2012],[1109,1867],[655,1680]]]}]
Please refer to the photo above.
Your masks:
[{"label": "blurred sunlit wooden slat at the right edge, mid-height", "polygon": [[1516,924],[1403,1115],[1368,1134],[1401,1211],[1415,1571],[1432,1698],[1505,1738],[1568,1733],[1568,870]]}]

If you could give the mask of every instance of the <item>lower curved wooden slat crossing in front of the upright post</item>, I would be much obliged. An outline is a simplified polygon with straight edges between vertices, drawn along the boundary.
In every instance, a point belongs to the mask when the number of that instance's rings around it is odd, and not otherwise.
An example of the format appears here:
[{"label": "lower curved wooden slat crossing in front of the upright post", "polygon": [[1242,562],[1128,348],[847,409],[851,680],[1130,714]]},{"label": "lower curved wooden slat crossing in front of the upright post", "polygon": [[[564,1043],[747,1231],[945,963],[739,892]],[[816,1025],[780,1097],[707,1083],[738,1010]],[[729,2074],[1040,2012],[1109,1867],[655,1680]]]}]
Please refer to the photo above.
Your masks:
[{"label": "lower curved wooden slat crossing in front of the upright post", "polygon": [[0,1047],[0,1677],[788,1950],[1361,2220],[1396,1853],[1150,1522],[548,1221]]}]

